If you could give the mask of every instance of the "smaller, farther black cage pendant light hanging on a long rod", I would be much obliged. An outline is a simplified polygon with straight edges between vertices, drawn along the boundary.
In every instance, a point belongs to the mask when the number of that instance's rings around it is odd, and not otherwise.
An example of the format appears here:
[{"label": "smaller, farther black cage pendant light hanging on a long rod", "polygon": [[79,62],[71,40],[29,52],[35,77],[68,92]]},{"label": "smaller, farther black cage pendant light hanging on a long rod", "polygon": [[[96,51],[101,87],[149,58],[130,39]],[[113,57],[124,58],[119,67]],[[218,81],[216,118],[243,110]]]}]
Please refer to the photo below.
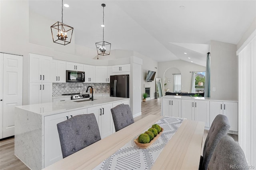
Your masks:
[{"label": "smaller, farther black cage pendant light hanging on a long rod", "polygon": [[110,54],[111,44],[109,42],[104,41],[104,7],[106,6],[106,4],[101,4],[101,6],[103,7],[103,24],[101,25],[103,28],[103,40],[101,42],[96,42],[95,44],[98,55],[106,56]]}]

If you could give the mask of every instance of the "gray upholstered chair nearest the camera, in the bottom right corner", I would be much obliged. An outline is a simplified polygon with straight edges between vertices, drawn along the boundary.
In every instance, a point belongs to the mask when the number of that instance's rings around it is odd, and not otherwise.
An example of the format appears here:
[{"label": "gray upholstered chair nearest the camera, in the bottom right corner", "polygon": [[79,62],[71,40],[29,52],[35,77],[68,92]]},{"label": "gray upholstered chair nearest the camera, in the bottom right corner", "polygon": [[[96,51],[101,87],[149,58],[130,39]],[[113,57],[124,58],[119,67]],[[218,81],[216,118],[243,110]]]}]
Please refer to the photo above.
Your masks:
[{"label": "gray upholstered chair nearest the camera, in the bottom right corner", "polygon": [[[236,166],[236,167],[235,167]],[[239,168],[239,166],[241,166]],[[214,149],[207,170],[248,170],[242,148],[230,136],[223,136]]]}]

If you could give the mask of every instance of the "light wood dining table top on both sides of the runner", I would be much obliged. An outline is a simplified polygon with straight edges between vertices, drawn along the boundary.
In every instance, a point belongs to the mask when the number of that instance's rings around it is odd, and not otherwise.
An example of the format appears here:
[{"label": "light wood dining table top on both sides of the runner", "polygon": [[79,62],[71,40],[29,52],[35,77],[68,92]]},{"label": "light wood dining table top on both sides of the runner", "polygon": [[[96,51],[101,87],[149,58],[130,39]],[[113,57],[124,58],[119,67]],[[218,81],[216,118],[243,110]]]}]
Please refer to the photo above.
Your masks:
[{"label": "light wood dining table top on both sides of the runner", "polygon": [[[44,170],[91,170],[161,118],[162,116],[148,115]],[[198,170],[203,134],[204,122],[183,120],[151,169]]]}]

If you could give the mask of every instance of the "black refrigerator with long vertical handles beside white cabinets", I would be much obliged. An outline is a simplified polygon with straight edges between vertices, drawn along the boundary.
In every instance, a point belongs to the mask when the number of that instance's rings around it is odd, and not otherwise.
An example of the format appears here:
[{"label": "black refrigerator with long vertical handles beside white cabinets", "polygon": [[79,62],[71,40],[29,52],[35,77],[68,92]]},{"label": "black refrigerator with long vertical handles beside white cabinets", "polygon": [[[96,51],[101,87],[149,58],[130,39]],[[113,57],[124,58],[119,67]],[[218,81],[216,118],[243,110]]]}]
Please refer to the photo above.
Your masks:
[{"label": "black refrigerator with long vertical handles beside white cabinets", "polygon": [[129,75],[110,76],[110,96],[129,98]]}]

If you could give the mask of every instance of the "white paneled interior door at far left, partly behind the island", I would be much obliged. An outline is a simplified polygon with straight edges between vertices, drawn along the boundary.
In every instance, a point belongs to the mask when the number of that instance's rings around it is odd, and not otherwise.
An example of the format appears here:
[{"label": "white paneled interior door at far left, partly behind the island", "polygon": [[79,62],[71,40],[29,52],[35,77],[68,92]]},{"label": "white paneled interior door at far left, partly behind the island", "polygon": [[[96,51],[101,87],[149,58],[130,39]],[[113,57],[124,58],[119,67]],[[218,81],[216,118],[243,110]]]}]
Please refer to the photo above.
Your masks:
[{"label": "white paneled interior door at far left, partly behind the island", "polygon": [[4,54],[3,138],[14,135],[14,108],[22,105],[23,58]]}]

